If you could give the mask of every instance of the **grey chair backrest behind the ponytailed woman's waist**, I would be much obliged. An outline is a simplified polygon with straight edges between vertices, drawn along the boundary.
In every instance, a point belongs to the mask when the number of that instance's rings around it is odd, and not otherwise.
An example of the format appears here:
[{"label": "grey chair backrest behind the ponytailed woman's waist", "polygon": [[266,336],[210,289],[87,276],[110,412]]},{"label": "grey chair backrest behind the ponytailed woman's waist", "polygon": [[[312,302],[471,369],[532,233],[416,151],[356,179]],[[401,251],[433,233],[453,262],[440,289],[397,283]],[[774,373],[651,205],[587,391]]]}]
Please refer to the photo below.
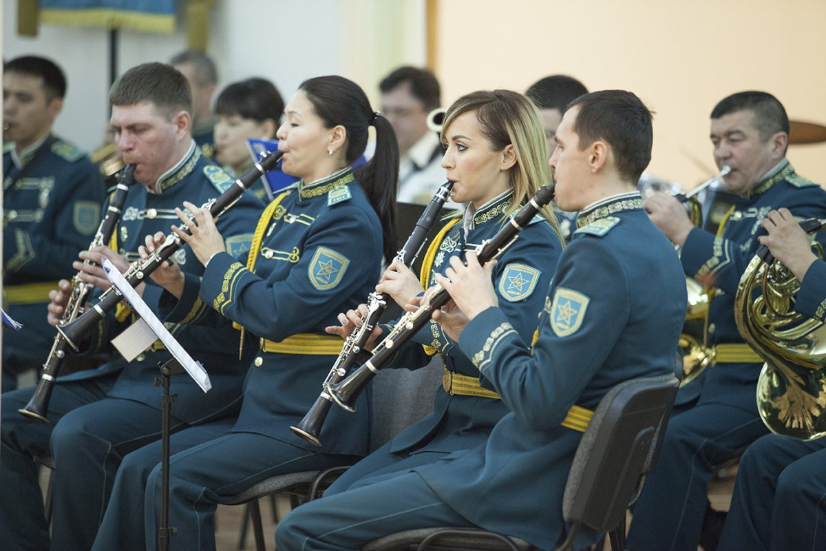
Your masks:
[{"label": "grey chair backrest behind the ponytailed woman's waist", "polygon": [[435,390],[442,384],[444,363],[435,354],[424,368],[383,369],[373,379],[370,451],[433,411]]}]

